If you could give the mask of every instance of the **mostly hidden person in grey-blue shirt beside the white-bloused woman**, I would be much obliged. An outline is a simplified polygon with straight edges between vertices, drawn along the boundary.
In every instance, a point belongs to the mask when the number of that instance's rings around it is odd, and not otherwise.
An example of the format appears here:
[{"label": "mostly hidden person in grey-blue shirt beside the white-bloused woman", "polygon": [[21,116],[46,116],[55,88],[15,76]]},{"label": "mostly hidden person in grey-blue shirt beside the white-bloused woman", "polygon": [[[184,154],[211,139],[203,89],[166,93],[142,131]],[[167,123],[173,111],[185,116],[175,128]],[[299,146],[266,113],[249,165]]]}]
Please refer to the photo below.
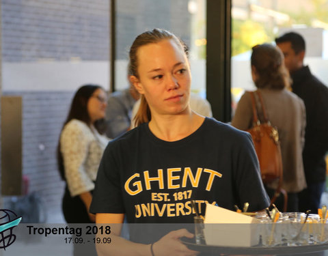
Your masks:
[{"label": "mostly hidden person in grey-blue shirt beside the white-bloused woman", "polygon": [[130,129],[131,111],[138,99],[139,93],[133,85],[109,95],[105,116],[107,137],[116,138]]}]

